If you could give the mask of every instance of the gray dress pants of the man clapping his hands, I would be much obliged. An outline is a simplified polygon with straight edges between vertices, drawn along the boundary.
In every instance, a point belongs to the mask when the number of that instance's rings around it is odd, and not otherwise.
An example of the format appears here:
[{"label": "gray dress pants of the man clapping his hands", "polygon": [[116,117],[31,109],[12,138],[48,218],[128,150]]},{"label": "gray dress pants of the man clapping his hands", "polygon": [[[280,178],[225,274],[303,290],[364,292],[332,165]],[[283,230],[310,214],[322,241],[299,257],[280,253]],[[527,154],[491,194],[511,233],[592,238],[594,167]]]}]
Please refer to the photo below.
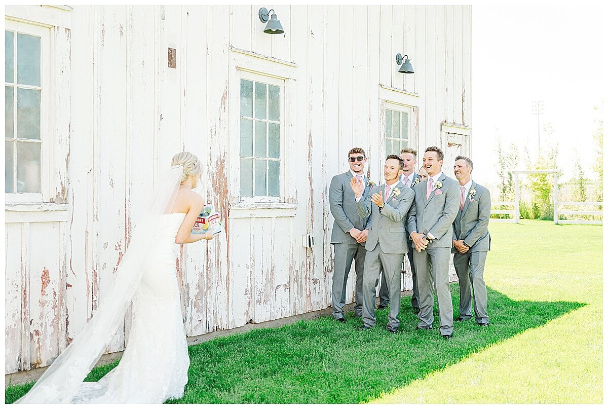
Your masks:
[{"label": "gray dress pants of the man clapping his hands", "polygon": [[399,308],[401,307],[401,265],[403,254],[389,254],[380,250],[380,245],[365,256],[363,275],[363,324],[368,327],[376,325],[376,283],[380,270],[389,288],[389,322],[387,328],[398,329]]}]

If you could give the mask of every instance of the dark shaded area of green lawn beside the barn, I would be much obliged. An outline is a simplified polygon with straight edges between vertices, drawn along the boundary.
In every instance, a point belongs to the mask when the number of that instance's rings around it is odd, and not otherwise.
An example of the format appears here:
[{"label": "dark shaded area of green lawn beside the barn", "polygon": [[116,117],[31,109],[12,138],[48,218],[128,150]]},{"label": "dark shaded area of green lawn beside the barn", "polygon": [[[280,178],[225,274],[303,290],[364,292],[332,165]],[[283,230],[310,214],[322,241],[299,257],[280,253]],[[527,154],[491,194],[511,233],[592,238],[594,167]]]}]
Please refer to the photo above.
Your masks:
[{"label": "dark shaded area of green lawn beside the barn", "polygon": [[[457,317],[458,284],[451,291]],[[168,403],[367,402],[584,305],[513,301],[488,288],[490,326],[455,322],[451,340],[439,335],[437,304],[434,329],[413,330],[418,319],[410,297],[401,299],[401,328],[395,335],[384,329],[384,310],[377,313],[376,326],[365,332],[358,330],[361,318],[350,312],[345,324],[328,316],[219,337],[189,348],[184,397]],[[96,368],[86,380],[98,380],[116,365]],[[8,388],[5,402],[14,402],[31,386]]]}]

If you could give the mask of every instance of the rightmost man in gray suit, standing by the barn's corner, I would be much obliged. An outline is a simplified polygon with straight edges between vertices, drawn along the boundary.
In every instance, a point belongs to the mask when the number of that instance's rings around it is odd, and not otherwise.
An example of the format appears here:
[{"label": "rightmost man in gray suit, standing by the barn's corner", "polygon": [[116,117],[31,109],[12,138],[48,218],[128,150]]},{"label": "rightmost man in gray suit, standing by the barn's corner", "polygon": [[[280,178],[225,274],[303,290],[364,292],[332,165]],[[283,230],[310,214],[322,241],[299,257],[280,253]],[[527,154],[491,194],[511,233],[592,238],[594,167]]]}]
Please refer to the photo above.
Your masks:
[{"label": "rightmost man in gray suit, standing by the barn's corner", "polygon": [[454,268],[460,285],[460,316],[458,321],[470,320],[471,285],[477,325],[489,323],[488,294],[483,281],[486,254],[490,250],[490,192],[471,180],[473,162],[466,156],[456,156],[454,175],[460,184],[460,208],[454,220]]}]

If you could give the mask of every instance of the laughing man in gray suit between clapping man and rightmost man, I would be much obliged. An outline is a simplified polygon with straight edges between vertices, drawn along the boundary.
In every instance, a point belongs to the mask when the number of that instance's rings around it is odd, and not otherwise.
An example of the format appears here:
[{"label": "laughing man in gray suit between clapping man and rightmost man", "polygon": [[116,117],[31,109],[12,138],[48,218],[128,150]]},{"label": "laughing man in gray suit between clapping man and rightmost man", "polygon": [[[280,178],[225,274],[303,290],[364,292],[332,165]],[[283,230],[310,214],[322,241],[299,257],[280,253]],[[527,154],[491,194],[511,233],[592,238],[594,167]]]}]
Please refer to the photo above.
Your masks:
[{"label": "laughing man in gray suit between clapping man and rightmost man", "polygon": [[460,189],[458,182],[441,172],[443,152],[436,146],[424,151],[423,165],[429,174],[427,183],[414,186],[415,205],[407,219],[418,282],[418,306],[420,322],[416,329],[433,326],[433,293],[430,287],[432,275],[439,304],[439,332],[442,337],[452,338],[452,295],[449,285],[449,262],[454,236],[452,223],[458,212]]}]

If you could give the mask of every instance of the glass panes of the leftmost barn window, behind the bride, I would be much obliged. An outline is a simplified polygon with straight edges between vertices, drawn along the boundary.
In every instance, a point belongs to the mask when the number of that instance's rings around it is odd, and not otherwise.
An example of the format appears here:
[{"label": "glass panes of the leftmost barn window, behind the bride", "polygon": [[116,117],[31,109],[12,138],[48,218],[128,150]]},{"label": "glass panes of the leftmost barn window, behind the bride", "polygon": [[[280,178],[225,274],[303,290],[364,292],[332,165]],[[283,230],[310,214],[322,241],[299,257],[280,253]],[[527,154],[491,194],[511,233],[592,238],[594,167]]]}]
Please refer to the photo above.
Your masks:
[{"label": "glass panes of the leftmost barn window, behind the bride", "polygon": [[4,191],[40,193],[43,38],[18,30],[4,36]]}]

